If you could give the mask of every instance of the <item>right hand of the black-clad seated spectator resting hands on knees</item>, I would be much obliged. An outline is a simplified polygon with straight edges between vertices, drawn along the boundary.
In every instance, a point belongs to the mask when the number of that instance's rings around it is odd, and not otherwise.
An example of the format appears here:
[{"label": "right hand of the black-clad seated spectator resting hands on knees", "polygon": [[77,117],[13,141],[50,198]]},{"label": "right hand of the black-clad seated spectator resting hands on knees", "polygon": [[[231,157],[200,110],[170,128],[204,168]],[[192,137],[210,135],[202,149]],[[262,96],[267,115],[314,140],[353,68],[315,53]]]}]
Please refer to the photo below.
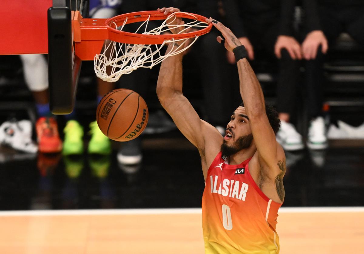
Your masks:
[{"label": "right hand of the black-clad seated spectator resting hands on knees", "polygon": [[306,35],[302,43],[302,54],[306,60],[315,59],[317,49],[321,45],[321,51],[326,54],[328,49],[327,39],[321,30],[315,30]]}]

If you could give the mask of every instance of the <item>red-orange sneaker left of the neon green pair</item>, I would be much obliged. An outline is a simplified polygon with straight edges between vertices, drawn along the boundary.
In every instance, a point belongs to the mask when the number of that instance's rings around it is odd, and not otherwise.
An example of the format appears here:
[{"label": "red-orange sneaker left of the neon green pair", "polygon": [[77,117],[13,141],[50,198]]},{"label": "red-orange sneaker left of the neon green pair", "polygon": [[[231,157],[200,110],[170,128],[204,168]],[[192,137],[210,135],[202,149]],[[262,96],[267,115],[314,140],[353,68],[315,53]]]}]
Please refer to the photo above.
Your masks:
[{"label": "red-orange sneaker left of the neon green pair", "polygon": [[39,152],[55,153],[62,151],[57,122],[52,117],[41,117],[35,124]]}]

